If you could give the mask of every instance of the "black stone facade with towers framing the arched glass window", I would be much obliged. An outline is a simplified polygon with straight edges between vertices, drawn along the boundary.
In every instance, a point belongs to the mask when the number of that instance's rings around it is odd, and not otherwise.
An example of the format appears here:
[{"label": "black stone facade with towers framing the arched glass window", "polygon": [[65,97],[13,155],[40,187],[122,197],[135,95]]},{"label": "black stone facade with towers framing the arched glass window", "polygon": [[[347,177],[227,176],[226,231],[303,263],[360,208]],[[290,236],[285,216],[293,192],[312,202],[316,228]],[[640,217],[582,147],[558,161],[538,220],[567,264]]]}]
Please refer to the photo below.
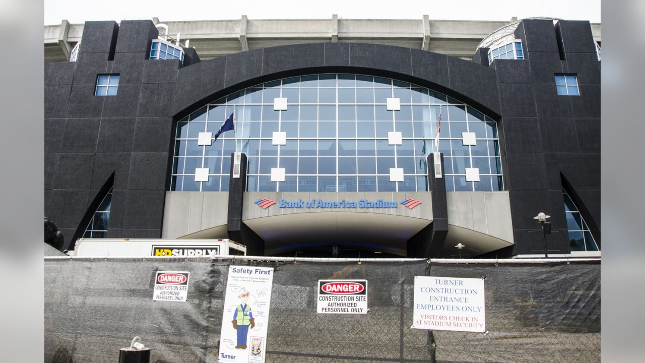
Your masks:
[{"label": "black stone facade with towers framing the arched glass window", "polygon": [[[88,21],[78,60],[45,64],[45,214],[72,248],[110,187],[108,236],[161,236],[178,119],[241,88],[320,72],[409,81],[496,119],[515,236],[504,255],[543,251],[532,219],[541,211],[552,216],[550,253],[570,251],[562,187],[600,243],[600,64],[588,21],[523,20],[515,37],[525,60],[490,66],[486,48],[464,61],[358,43],[264,48],[203,62],[186,49],[183,64],[150,61],[157,36],[152,21]],[[97,75],[113,73],[117,96],[94,96]],[[581,96],[557,96],[555,73],[577,74]],[[232,227],[245,234],[234,218]]]}]

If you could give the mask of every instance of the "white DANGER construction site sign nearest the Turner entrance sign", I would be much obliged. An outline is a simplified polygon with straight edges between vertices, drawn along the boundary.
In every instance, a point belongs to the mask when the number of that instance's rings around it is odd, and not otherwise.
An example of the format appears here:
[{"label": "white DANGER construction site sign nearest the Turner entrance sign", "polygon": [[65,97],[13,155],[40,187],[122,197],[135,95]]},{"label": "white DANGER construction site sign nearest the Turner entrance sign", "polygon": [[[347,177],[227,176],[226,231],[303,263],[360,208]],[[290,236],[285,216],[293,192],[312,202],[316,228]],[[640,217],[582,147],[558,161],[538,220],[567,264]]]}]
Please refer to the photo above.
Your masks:
[{"label": "white DANGER construction site sign nearest the Turner entrance sign", "polygon": [[367,314],[367,280],[318,280],[319,314]]}]

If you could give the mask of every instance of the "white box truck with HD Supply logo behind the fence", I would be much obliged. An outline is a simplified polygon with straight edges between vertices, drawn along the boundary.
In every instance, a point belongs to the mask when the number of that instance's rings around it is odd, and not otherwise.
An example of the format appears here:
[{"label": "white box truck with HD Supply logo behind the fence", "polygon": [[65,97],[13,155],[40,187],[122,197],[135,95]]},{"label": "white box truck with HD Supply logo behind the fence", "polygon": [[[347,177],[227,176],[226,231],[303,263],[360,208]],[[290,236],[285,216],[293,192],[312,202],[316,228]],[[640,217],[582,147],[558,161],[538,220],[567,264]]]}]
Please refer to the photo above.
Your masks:
[{"label": "white box truck with HD Supply logo behind the fence", "polygon": [[157,238],[79,238],[72,256],[204,257],[246,256],[246,246],[226,239],[171,240]]}]

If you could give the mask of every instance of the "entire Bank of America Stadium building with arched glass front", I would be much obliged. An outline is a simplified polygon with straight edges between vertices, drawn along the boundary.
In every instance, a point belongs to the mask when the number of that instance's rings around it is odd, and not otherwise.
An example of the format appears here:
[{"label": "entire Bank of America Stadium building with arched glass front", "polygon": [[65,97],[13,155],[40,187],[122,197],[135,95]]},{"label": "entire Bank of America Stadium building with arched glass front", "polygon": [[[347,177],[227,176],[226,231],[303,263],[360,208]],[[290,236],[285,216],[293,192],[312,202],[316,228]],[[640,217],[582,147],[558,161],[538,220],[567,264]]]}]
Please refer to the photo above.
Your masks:
[{"label": "entire Bank of America Stadium building with arched glass front", "polygon": [[48,26],[45,215],[67,248],[188,237],[257,256],[599,256],[599,30]]}]

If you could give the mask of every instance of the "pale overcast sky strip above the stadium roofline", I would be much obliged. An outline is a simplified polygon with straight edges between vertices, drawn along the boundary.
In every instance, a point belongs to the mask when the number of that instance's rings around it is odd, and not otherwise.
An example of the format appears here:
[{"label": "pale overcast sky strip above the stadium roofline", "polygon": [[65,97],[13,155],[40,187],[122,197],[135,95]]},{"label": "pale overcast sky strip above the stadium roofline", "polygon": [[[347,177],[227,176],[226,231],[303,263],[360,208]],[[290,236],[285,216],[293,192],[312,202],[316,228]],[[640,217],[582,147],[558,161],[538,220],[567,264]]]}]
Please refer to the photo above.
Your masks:
[{"label": "pale overcast sky strip above the stadium roofline", "polygon": [[430,19],[510,20],[517,16],[548,16],[600,23],[600,0],[248,0],[248,1],[136,1],[45,0],[45,25],[67,19],[152,19],[160,21],[239,19]]}]

